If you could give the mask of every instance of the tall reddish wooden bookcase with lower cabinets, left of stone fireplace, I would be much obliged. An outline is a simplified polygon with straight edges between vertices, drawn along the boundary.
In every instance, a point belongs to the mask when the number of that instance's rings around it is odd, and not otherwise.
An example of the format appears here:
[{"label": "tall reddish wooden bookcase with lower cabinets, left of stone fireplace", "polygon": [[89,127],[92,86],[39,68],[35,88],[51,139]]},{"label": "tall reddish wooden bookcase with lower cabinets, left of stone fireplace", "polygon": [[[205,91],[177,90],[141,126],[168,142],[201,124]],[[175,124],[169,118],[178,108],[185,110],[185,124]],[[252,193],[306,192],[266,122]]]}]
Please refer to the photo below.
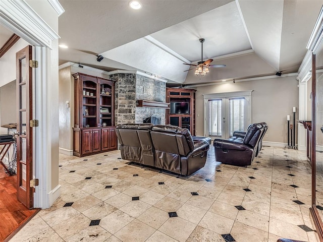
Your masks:
[{"label": "tall reddish wooden bookcase with lower cabinets, left of stone fireplace", "polygon": [[73,77],[73,155],[116,150],[115,81],[82,73]]}]

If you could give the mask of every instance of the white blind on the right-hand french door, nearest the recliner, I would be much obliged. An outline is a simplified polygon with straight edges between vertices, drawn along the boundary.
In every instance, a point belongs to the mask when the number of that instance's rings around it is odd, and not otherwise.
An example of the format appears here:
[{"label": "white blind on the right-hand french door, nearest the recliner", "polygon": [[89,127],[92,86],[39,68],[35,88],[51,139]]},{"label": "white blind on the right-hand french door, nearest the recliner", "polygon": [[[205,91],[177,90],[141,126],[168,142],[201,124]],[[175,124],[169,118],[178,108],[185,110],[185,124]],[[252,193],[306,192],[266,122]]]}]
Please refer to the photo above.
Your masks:
[{"label": "white blind on the right-hand french door, nearest the recliner", "polygon": [[234,131],[244,131],[244,98],[229,99],[230,137]]}]

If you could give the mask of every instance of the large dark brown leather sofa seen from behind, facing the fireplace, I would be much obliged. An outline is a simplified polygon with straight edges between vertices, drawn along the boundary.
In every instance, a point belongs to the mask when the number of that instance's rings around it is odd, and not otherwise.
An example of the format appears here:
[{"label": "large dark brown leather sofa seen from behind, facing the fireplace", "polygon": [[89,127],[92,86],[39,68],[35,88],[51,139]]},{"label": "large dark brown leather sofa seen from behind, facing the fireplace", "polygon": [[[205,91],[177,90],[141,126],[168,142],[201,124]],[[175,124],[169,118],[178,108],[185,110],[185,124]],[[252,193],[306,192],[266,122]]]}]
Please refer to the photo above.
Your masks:
[{"label": "large dark brown leather sofa seen from behind, facing the fireplace", "polygon": [[135,163],[190,175],[202,168],[211,139],[192,137],[187,129],[171,125],[117,125],[121,156]]}]

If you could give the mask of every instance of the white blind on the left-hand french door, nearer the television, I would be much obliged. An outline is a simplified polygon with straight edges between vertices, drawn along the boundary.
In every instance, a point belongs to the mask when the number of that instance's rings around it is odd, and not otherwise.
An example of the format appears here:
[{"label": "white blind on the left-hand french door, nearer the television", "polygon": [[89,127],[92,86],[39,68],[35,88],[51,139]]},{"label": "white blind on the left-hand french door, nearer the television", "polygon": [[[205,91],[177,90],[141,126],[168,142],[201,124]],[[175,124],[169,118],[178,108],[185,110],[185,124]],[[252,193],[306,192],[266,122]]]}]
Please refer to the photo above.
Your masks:
[{"label": "white blind on the left-hand french door, nearer the television", "polygon": [[222,99],[208,100],[208,136],[222,136]]}]

